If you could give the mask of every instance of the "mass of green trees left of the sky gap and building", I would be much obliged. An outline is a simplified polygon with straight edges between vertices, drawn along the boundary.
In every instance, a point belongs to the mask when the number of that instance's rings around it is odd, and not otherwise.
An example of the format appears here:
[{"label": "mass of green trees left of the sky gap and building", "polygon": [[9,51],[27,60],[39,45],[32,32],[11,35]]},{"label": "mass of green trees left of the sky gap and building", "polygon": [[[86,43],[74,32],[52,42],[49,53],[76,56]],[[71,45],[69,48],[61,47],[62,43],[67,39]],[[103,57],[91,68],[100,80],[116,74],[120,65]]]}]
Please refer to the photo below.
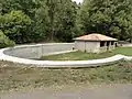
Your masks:
[{"label": "mass of green trees left of the sky gap and building", "polygon": [[0,0],[0,30],[15,43],[70,42],[79,33],[72,0]]}]

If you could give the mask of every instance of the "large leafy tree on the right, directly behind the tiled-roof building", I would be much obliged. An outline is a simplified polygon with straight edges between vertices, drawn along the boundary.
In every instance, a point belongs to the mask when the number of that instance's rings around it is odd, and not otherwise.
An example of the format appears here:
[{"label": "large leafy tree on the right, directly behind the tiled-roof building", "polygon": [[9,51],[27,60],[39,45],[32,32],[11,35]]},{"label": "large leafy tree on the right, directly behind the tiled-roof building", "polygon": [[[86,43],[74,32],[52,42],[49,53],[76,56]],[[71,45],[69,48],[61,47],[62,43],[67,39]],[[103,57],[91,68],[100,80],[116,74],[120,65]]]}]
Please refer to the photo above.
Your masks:
[{"label": "large leafy tree on the right, directly behind the tiled-roof building", "polygon": [[79,24],[85,33],[98,32],[125,40],[132,26],[131,0],[85,0]]}]

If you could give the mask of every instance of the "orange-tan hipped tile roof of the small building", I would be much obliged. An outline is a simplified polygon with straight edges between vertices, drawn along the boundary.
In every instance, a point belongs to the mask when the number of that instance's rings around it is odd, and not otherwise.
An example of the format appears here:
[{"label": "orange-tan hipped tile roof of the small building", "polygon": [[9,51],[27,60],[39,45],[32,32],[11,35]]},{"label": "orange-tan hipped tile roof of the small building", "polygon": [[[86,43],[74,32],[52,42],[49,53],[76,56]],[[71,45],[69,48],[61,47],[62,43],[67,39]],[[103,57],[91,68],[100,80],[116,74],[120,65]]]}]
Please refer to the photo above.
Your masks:
[{"label": "orange-tan hipped tile roof of the small building", "polygon": [[117,38],[109,37],[102,34],[92,33],[74,38],[75,41],[118,41]]}]

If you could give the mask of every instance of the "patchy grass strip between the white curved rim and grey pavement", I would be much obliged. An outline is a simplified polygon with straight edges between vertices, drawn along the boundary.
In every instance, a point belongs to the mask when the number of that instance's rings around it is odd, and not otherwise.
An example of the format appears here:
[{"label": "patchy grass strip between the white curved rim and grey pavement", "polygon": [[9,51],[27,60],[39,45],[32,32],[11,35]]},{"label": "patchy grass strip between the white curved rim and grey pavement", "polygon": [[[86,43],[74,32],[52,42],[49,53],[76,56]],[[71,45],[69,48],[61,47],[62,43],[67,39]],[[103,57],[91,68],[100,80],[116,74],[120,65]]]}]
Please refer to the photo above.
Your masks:
[{"label": "patchy grass strip between the white curved rim and grey pavement", "polygon": [[132,82],[132,62],[106,67],[47,69],[0,62],[0,91],[52,86]]}]

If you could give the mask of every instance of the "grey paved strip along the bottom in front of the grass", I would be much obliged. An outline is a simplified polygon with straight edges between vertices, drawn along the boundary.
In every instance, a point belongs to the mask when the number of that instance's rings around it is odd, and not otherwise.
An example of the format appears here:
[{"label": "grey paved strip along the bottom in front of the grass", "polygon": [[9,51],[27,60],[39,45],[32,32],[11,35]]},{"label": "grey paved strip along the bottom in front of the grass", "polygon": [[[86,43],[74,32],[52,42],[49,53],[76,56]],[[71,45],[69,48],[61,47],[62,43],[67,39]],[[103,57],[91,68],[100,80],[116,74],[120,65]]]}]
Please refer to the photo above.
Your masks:
[{"label": "grey paved strip along the bottom in front of the grass", "polygon": [[1,99],[132,99],[132,85],[117,85],[78,90],[40,90],[1,96]]}]

